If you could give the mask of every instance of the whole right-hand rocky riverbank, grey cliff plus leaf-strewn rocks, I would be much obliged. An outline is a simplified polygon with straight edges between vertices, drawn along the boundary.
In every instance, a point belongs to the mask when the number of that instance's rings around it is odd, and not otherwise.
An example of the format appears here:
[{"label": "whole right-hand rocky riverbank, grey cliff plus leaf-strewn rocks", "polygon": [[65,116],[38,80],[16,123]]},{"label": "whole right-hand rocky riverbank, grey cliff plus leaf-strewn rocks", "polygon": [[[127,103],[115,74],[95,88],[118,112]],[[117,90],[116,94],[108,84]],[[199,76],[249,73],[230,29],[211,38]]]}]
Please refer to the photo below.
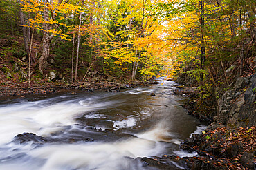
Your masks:
[{"label": "whole right-hand rocky riverbank, grey cliff plus leaf-strewn rocks", "polygon": [[[196,94],[181,87],[176,94]],[[188,169],[256,169],[256,74],[237,78],[217,101],[217,115],[196,114],[196,100],[183,106],[189,114],[211,123],[203,134],[193,134],[181,149],[196,157],[180,158]]]}]

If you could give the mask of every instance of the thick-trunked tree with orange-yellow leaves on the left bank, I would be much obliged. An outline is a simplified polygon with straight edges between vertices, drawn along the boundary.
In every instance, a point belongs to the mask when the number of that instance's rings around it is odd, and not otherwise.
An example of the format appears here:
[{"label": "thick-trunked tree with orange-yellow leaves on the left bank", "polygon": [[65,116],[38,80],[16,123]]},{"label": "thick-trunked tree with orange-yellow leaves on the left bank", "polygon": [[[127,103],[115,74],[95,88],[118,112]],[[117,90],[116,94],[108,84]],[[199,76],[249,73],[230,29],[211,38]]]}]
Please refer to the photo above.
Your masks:
[{"label": "thick-trunked tree with orange-yellow leaves on the left bank", "polygon": [[63,25],[62,19],[64,15],[71,12],[78,12],[80,7],[74,6],[65,1],[37,1],[37,0],[21,0],[24,11],[32,12],[35,18],[27,20],[28,23],[33,23],[34,28],[41,30],[42,38],[42,55],[39,58],[39,70],[43,72],[44,65],[48,59],[50,52],[50,43],[54,36],[59,36],[62,39],[67,39],[68,35],[60,30],[60,25]]}]

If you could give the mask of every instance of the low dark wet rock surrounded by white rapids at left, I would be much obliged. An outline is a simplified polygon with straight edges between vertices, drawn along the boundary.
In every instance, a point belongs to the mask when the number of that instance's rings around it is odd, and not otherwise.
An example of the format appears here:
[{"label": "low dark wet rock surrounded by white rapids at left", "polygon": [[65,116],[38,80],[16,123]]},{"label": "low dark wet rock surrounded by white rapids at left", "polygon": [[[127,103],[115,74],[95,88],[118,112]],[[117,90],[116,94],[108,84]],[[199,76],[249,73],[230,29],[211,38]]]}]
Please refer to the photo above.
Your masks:
[{"label": "low dark wet rock surrounded by white rapids at left", "polygon": [[44,138],[42,136],[37,136],[36,134],[33,133],[23,133],[23,134],[18,134],[15,136],[13,139],[13,142],[17,143],[24,143],[24,142],[35,142],[35,143],[45,143],[47,142],[47,138]]}]

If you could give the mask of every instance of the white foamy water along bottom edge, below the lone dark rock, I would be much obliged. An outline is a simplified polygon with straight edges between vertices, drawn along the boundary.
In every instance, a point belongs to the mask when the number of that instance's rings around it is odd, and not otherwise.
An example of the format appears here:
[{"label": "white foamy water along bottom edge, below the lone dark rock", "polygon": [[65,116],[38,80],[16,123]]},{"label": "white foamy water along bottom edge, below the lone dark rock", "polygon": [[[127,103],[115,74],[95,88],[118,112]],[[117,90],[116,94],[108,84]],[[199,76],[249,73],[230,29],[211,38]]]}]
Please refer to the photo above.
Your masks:
[{"label": "white foamy water along bottom edge, below the lone dark rock", "polygon": [[[131,138],[114,143],[84,143],[73,145],[46,145],[33,149],[28,155],[46,160],[41,170],[48,169],[129,169],[125,157],[152,156],[163,151],[158,143]],[[135,162],[132,162],[135,164]],[[135,166],[135,165],[134,165]],[[137,169],[140,166],[136,167]]]}]

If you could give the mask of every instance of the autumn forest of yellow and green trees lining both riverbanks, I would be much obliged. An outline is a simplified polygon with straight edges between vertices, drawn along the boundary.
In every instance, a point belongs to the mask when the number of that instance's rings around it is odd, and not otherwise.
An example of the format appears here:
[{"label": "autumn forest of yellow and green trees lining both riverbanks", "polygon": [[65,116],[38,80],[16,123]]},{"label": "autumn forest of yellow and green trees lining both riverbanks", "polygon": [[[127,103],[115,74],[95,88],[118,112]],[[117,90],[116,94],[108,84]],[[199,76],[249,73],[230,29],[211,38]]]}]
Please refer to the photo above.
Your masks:
[{"label": "autumn forest of yellow and green trees lining both riverbanks", "polygon": [[2,86],[165,76],[196,87],[205,108],[256,70],[253,0],[1,0],[0,8]]}]

